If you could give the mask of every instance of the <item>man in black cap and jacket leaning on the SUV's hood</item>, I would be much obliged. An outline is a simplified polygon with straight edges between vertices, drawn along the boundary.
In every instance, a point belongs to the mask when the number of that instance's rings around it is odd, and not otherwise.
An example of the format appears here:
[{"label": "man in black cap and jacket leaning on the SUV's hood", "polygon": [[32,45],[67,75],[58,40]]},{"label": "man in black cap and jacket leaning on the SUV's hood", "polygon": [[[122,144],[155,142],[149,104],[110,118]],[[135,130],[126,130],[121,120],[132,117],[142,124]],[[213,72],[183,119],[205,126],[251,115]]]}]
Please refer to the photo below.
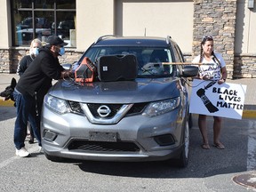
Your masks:
[{"label": "man in black cap and jacket leaning on the SUV's hood", "polygon": [[[52,79],[58,80],[71,76],[72,72],[62,68],[58,59],[59,55],[65,53],[64,45],[67,45],[67,43],[64,43],[59,36],[49,36],[46,45],[39,49],[39,54],[28,66],[24,74],[20,76],[20,80],[14,89],[13,96],[17,106],[17,118],[14,125],[14,144],[17,156],[30,156],[24,143],[28,116],[30,116],[29,121],[31,119],[30,124],[32,124],[36,140],[38,140],[39,149],[41,150],[41,136],[36,126],[35,92],[37,99],[40,98],[43,103],[44,95],[52,86]],[[42,105],[40,108],[42,108]]]}]

